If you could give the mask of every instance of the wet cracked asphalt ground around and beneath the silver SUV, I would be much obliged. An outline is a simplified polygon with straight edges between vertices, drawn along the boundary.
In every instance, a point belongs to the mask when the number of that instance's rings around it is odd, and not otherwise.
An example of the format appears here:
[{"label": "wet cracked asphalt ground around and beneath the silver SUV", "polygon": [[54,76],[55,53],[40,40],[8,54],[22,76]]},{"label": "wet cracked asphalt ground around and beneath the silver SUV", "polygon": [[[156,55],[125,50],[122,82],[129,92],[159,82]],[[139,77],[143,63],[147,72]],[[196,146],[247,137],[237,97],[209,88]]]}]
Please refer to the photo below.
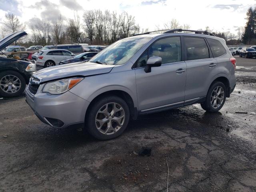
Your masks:
[{"label": "wet cracked asphalt ground around and beneath the silver SUV", "polygon": [[256,73],[236,76],[220,112],[195,104],[140,116],[108,141],[43,124],[24,95],[1,99],[0,191],[256,191]]}]

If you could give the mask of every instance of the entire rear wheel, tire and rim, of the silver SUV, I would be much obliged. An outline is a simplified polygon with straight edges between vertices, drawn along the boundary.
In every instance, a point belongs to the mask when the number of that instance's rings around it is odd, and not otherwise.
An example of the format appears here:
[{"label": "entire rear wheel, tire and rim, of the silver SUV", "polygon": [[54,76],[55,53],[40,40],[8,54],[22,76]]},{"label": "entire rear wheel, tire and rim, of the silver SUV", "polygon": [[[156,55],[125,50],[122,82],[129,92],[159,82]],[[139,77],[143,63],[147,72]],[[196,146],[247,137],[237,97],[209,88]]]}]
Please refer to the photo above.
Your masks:
[{"label": "entire rear wheel, tire and rim, of the silver SUV", "polygon": [[[218,89],[216,90],[216,88]],[[218,96],[218,93],[221,93],[220,88],[222,88],[223,93]],[[215,91],[217,91],[217,93]],[[201,107],[207,112],[217,112],[224,105],[226,101],[226,95],[227,95],[227,90],[224,83],[219,81],[213,82],[213,84],[210,86],[208,93],[206,95],[206,100],[203,103],[201,103]],[[216,100],[216,103],[215,103],[215,100]],[[214,106],[215,104],[216,106]]]}]

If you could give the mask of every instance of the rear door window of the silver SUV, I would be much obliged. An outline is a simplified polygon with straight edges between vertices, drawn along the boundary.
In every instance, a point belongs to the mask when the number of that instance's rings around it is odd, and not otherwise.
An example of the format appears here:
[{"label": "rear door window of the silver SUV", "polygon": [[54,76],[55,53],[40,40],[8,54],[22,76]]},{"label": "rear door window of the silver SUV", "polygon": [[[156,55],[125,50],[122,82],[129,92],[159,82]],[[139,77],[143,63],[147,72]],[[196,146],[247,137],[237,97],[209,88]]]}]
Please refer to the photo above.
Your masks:
[{"label": "rear door window of the silver SUV", "polygon": [[185,37],[187,60],[209,58],[208,46],[203,38]]}]

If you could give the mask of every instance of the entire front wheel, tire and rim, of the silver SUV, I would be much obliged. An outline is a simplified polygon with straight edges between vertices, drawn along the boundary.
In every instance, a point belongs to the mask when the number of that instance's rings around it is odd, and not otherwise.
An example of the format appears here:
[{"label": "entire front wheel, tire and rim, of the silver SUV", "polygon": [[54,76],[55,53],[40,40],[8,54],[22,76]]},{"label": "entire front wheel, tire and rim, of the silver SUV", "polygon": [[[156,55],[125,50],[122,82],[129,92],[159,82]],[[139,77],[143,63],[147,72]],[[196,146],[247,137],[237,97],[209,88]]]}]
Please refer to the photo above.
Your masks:
[{"label": "entire front wheel, tire and rim, of the silver SUV", "polygon": [[[108,105],[108,111],[106,110],[106,105]],[[119,110],[118,112],[113,112],[114,106],[116,106],[116,111]],[[108,140],[120,136],[126,129],[130,119],[128,105],[122,98],[117,96],[100,98],[93,102],[87,111],[85,128],[89,134],[99,140]],[[119,124],[117,119],[120,120]]]}]

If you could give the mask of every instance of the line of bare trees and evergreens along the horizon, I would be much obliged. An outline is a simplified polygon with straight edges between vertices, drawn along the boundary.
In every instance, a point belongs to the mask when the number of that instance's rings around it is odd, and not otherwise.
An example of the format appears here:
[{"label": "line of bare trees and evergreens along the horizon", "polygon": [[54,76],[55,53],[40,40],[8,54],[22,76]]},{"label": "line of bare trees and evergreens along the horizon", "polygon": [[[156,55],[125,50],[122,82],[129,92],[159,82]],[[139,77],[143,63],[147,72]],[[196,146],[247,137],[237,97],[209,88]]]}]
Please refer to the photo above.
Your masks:
[{"label": "line of bare trees and evergreens along the horizon", "polygon": [[[218,32],[206,26],[204,30],[212,32],[215,36],[224,38],[227,44],[256,44],[256,8],[250,7],[246,13],[246,26],[238,27],[237,34],[230,31]],[[12,34],[20,30],[26,30],[27,26],[20,22],[17,16],[12,13],[5,15],[5,20],[0,28],[0,36]],[[155,30],[162,29],[190,29],[189,24],[180,24],[178,20],[172,19],[162,26],[155,26]],[[30,26],[29,36],[18,41],[20,45],[51,45],[51,44],[71,44],[88,43],[109,45],[119,39],[132,36],[134,34],[148,32],[136,24],[135,18],[123,11],[121,14],[109,10],[86,10],[80,18],[74,13],[73,18],[58,16],[55,21],[46,22],[35,19]],[[15,42],[16,44],[17,42]]]}]

